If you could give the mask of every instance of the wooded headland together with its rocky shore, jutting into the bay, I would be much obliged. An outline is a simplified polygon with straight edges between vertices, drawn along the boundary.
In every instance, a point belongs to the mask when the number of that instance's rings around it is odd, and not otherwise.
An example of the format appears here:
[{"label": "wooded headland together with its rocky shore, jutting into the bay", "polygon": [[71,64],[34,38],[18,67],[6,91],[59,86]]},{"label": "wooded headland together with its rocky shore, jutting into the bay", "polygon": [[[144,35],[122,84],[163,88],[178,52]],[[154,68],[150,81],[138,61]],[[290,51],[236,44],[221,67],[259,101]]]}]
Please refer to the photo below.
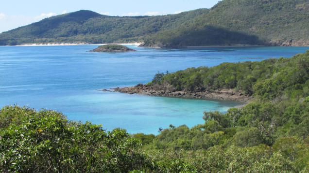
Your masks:
[{"label": "wooded headland together with its rocky shore, jutting into the bay", "polygon": [[[286,77],[286,71],[292,69],[293,72],[300,72],[297,75],[308,74],[308,69],[305,68],[308,54],[309,50],[305,54],[292,58],[270,58],[260,62],[225,62],[214,67],[192,67],[177,72],[157,72],[153,80],[146,85],[114,88],[114,91],[150,96],[245,102],[252,101],[253,97],[275,99],[281,97],[281,93],[288,92],[285,90],[297,88],[289,87],[287,83],[294,85],[294,83],[306,81],[302,78],[290,80]],[[282,68],[287,66],[288,62],[291,63],[289,64],[291,67]],[[296,75],[293,72],[291,76]],[[280,94],[277,94],[278,89],[282,90]],[[293,91],[293,96],[298,94],[306,96],[307,93],[297,92]]]}]

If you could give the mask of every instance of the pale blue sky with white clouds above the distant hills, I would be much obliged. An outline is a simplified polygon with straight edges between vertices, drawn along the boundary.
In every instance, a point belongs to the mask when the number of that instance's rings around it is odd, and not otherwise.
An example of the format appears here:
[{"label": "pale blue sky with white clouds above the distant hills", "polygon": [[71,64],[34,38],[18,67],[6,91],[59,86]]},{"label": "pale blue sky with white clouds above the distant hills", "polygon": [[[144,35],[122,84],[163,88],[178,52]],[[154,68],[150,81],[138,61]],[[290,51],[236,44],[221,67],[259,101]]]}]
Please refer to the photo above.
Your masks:
[{"label": "pale blue sky with white clouds above the distant hills", "polygon": [[113,16],[177,14],[219,0],[0,0],[0,33],[53,15],[91,10]]}]

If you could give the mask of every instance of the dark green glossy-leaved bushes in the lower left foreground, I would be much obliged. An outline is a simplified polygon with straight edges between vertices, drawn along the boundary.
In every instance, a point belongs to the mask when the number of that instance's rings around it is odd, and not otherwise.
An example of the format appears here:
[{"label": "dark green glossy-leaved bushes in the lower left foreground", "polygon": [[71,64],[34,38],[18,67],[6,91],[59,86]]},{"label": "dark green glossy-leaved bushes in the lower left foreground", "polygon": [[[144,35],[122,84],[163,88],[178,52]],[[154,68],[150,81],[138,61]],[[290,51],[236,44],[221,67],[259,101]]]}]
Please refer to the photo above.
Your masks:
[{"label": "dark green glossy-leaved bushes in the lower left foreground", "polygon": [[20,173],[124,173],[151,162],[125,130],[68,121],[55,111],[0,110],[0,170]]}]

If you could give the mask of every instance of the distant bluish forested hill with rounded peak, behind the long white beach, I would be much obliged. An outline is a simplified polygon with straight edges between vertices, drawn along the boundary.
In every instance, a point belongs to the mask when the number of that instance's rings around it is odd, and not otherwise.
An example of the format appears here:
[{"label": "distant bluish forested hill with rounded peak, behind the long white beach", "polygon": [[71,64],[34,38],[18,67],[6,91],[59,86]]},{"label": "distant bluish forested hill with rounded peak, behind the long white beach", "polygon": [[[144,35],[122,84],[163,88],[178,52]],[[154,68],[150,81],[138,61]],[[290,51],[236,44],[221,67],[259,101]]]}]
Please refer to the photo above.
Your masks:
[{"label": "distant bluish forested hill with rounded peak, behind the long white beach", "polygon": [[142,42],[157,31],[173,29],[208,9],[161,16],[107,16],[81,10],[43,19],[0,34],[0,45],[24,43]]}]

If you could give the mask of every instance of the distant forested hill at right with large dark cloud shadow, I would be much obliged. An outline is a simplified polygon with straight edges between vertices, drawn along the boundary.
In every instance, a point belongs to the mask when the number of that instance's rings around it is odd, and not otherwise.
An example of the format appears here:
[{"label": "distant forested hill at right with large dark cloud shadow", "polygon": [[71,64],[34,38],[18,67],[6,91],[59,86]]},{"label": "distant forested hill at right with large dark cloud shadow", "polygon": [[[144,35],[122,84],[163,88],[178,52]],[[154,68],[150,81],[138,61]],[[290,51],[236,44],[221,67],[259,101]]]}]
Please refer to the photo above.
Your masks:
[{"label": "distant forested hill at right with large dark cloud shadow", "polygon": [[146,39],[145,46],[308,45],[308,0],[222,0],[208,13]]}]

